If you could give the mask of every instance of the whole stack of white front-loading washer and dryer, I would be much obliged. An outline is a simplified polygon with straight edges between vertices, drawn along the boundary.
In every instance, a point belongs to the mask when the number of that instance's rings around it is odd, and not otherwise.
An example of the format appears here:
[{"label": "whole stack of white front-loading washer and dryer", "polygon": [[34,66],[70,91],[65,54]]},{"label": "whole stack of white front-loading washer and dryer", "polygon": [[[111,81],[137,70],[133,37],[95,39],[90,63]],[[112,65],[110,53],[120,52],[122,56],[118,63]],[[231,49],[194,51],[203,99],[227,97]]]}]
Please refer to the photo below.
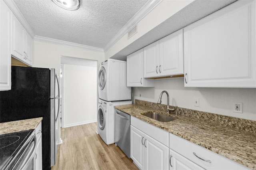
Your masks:
[{"label": "whole stack of white front-loading washer and dryer", "polygon": [[114,106],[132,104],[131,87],[126,86],[126,61],[108,59],[100,64],[98,74],[98,128],[106,144],[114,143]]}]

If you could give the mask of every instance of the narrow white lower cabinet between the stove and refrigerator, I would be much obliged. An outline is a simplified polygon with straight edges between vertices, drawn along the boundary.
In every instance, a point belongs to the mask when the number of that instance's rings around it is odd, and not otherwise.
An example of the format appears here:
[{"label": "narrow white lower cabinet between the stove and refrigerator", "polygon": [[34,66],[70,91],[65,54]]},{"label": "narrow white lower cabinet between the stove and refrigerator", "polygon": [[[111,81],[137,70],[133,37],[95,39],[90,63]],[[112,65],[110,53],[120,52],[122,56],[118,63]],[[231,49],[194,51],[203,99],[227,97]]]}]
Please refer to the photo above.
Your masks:
[{"label": "narrow white lower cabinet between the stove and refrigerator", "polygon": [[36,127],[36,170],[42,170],[42,122]]}]

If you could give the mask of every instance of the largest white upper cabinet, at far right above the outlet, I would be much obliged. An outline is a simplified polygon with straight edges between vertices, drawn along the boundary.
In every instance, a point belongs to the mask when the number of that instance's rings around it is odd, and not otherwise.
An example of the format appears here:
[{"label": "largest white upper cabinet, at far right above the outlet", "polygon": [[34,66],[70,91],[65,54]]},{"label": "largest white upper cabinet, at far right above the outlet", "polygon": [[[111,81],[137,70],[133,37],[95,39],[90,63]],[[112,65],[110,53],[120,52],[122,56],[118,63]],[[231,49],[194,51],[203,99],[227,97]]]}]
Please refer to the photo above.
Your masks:
[{"label": "largest white upper cabinet, at far right above the outlet", "polygon": [[237,1],[184,28],[185,87],[256,87],[255,1]]}]

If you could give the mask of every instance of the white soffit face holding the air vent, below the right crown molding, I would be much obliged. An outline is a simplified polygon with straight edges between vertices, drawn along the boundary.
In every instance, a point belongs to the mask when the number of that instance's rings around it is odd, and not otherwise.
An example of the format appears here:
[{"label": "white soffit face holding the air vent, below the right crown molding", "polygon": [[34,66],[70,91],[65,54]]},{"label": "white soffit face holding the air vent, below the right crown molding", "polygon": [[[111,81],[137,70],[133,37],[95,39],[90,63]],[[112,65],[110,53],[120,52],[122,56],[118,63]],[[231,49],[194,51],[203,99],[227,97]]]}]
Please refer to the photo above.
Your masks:
[{"label": "white soffit face holding the air vent, below the right crown molding", "polygon": [[138,22],[138,32],[128,39],[125,34],[118,42],[116,42],[108,51],[105,52],[105,59],[115,55],[117,52],[128,46],[144,34],[173,16],[176,12],[193,2],[194,0],[163,0],[150,13]]}]

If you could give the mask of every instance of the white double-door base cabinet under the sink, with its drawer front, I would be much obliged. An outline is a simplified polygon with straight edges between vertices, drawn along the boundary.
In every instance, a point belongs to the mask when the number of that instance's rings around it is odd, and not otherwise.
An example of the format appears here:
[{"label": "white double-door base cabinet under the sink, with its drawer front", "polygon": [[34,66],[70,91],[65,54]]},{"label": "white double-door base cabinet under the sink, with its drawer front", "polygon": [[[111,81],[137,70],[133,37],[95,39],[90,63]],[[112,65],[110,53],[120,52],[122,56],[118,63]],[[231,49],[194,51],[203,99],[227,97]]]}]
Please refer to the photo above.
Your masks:
[{"label": "white double-door base cabinet under the sink, with its drawer front", "polygon": [[[130,126],[130,157],[134,161],[134,164],[142,170],[168,170],[169,148],[158,141],[166,139],[165,132],[167,131],[163,132],[164,136],[162,136],[161,131],[164,130],[136,119],[137,118],[131,117]],[[136,123],[133,124],[134,121],[136,121]],[[157,135],[160,134],[161,137],[158,138],[154,136],[153,138],[152,136],[149,136],[147,134],[147,129]],[[166,142],[168,142],[168,139]]]}]

